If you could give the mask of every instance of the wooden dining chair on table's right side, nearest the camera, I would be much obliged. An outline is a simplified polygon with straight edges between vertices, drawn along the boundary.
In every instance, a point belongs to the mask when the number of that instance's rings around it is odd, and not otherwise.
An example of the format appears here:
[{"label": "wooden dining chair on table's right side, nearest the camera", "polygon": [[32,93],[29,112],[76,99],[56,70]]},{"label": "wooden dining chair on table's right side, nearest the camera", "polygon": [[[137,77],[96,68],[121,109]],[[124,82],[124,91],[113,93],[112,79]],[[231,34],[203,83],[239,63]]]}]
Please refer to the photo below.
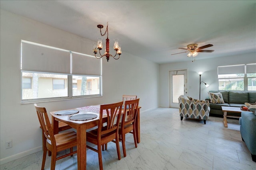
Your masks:
[{"label": "wooden dining chair on table's right side, nearest the camera", "polygon": [[[86,141],[97,145],[97,149],[94,149],[88,145],[86,147],[95,152],[98,152],[100,170],[103,170],[101,146],[103,150],[103,146],[108,142],[112,141],[116,143],[117,156],[119,160],[121,159],[118,127],[122,113],[122,104],[123,102],[100,105],[100,118],[98,122],[98,128],[86,132]],[[104,111],[106,111],[107,115],[105,121],[102,119]]]}]

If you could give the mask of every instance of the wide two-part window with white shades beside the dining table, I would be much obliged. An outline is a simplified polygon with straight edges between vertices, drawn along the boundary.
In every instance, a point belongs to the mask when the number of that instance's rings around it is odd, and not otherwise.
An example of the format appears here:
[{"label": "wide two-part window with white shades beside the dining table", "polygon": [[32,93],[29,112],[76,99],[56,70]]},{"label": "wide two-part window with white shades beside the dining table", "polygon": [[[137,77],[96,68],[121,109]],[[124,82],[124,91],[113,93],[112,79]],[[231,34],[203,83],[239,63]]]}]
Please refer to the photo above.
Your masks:
[{"label": "wide two-part window with white shades beside the dining table", "polygon": [[21,41],[22,103],[101,96],[102,61]]}]

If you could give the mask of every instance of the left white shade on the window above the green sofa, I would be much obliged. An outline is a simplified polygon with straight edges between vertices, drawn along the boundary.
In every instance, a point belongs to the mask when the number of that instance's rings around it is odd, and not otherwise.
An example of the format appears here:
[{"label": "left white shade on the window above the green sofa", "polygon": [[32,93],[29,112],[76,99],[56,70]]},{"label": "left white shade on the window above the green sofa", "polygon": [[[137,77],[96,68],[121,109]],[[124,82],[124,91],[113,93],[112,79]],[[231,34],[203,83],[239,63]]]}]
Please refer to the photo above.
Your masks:
[{"label": "left white shade on the window above the green sofa", "polygon": [[245,73],[244,64],[218,67],[218,74],[244,74],[244,73]]}]

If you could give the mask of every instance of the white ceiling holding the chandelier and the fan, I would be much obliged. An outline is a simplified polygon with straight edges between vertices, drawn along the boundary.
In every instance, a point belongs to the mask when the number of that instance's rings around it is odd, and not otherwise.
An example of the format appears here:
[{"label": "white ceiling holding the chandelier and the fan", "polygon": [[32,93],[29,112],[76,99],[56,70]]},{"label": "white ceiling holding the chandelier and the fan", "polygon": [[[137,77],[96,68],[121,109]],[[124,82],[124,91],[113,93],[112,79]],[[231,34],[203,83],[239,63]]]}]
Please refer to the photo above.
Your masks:
[{"label": "white ceiling holding the chandelier and the fan", "polygon": [[122,51],[159,64],[190,61],[171,54],[191,43],[214,45],[196,60],[256,52],[256,0],[1,0],[0,8],[95,42],[108,22],[110,53],[118,38]]}]

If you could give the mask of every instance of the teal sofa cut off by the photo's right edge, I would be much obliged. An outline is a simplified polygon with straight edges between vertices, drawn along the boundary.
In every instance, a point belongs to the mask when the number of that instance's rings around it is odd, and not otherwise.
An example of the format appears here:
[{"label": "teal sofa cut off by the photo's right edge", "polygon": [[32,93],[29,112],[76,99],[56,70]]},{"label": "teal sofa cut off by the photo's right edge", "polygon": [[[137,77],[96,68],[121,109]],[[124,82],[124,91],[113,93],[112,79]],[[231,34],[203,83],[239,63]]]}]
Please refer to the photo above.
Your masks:
[{"label": "teal sofa cut off by the photo's right edge", "polygon": [[250,150],[252,160],[256,162],[256,114],[250,111],[242,111],[239,125],[242,140]]}]

